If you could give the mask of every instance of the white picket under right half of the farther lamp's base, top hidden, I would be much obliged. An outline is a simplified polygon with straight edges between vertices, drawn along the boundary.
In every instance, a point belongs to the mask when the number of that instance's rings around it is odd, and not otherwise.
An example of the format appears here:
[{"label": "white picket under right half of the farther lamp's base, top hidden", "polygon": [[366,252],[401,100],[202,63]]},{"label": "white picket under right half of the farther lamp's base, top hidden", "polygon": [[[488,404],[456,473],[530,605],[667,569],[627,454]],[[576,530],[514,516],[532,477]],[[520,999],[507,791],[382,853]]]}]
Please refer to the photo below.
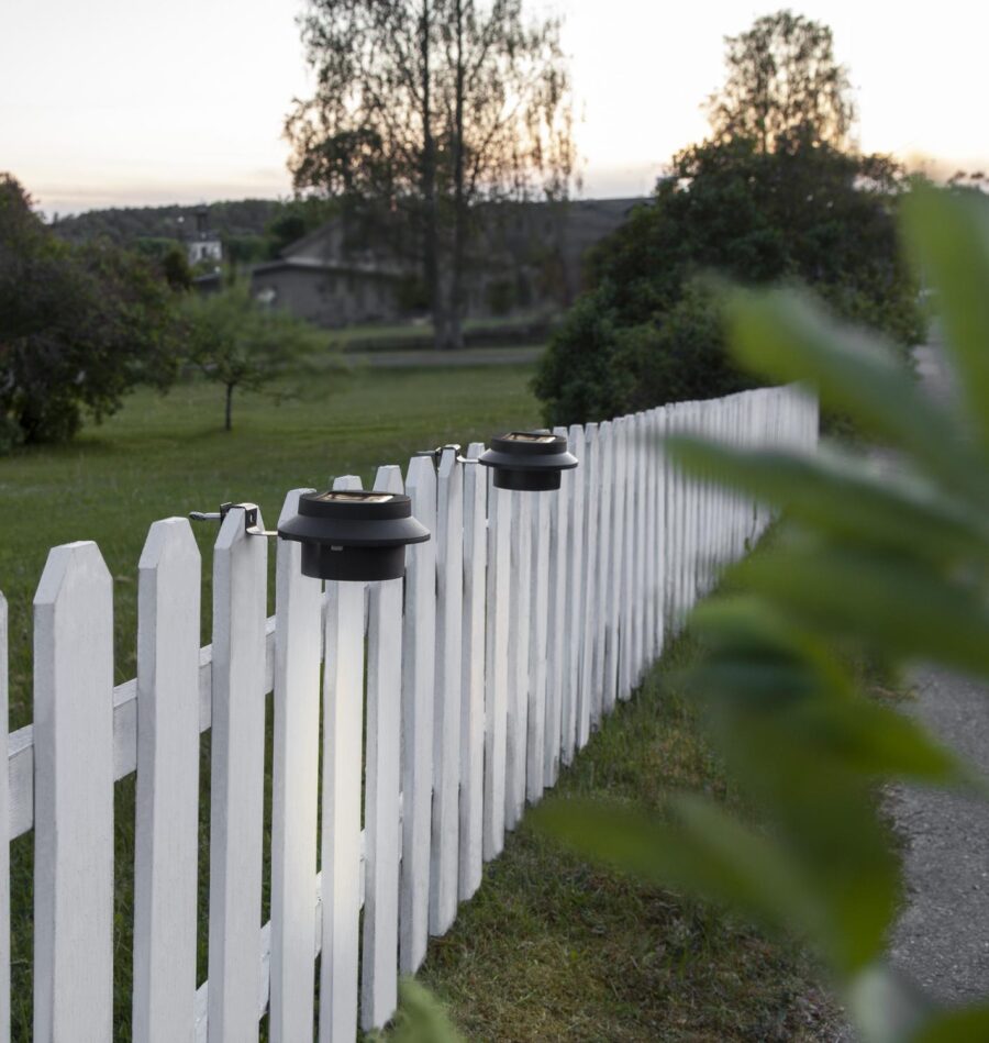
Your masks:
[{"label": "white picket under right half of the farther lamp's base, top hidden", "polygon": [[[525,496],[525,493],[521,493]],[[536,803],[543,796],[546,756],[546,666],[549,623],[549,499],[556,492],[533,492],[532,577],[530,586],[529,707],[525,742],[525,796]]]}]

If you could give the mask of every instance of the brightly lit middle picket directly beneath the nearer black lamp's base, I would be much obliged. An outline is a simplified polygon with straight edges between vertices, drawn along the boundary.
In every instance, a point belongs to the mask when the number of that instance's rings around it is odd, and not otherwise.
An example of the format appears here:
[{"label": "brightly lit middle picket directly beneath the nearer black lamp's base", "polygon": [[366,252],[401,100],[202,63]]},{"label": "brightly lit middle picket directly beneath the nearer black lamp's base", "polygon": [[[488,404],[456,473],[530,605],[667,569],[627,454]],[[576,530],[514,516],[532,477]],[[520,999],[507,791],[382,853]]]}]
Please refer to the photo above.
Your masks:
[{"label": "brightly lit middle picket directly beneath the nearer black lamp's base", "polygon": [[[333,488],[359,489],[360,479],[345,475]],[[365,590],[360,582],[326,584],[320,1043],[353,1043],[357,1035]]]}]

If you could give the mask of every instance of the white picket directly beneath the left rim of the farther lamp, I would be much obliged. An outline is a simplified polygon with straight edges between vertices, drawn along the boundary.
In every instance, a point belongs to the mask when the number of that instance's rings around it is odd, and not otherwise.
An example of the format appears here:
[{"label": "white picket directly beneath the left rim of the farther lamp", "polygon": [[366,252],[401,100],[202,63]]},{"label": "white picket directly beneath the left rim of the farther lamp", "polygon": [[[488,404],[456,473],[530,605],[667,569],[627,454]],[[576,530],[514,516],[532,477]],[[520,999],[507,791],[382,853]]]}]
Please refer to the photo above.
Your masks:
[{"label": "white picket directly beneath the left rim of the farther lamp", "polygon": [[512,500],[488,473],[488,577],[485,640],[485,859],[504,846],[508,772],[509,634],[511,610]]}]

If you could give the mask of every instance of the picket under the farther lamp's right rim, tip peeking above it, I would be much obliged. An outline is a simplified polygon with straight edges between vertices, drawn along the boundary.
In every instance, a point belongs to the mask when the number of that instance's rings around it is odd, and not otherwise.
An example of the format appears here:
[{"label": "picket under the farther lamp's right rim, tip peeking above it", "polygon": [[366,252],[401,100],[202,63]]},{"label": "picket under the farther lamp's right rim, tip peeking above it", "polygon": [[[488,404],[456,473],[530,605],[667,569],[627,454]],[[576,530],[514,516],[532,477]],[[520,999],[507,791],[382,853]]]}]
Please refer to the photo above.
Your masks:
[{"label": "picket under the farther lamp's right rim, tip peeking above it", "polygon": [[[553,433],[567,437],[566,428],[554,428]],[[574,471],[560,475],[559,492],[549,499],[549,619],[548,668],[546,674],[546,725],[543,754],[544,786],[555,786],[559,775],[559,757],[563,743],[563,700],[569,684],[569,658],[567,655],[573,619],[567,600],[569,581],[569,522],[573,499]]]}]

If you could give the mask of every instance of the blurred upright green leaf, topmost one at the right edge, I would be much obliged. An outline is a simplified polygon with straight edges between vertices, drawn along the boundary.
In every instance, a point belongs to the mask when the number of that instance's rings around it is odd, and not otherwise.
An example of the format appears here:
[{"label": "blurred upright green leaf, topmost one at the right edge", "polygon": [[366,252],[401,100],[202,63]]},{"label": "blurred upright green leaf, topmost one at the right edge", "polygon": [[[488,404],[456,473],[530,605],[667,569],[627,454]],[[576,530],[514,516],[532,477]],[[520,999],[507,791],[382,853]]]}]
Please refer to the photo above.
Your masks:
[{"label": "blurred upright green leaf, topmost one at the right edge", "polygon": [[989,200],[919,188],[903,201],[902,224],[921,274],[937,289],[958,390],[989,447]]}]

